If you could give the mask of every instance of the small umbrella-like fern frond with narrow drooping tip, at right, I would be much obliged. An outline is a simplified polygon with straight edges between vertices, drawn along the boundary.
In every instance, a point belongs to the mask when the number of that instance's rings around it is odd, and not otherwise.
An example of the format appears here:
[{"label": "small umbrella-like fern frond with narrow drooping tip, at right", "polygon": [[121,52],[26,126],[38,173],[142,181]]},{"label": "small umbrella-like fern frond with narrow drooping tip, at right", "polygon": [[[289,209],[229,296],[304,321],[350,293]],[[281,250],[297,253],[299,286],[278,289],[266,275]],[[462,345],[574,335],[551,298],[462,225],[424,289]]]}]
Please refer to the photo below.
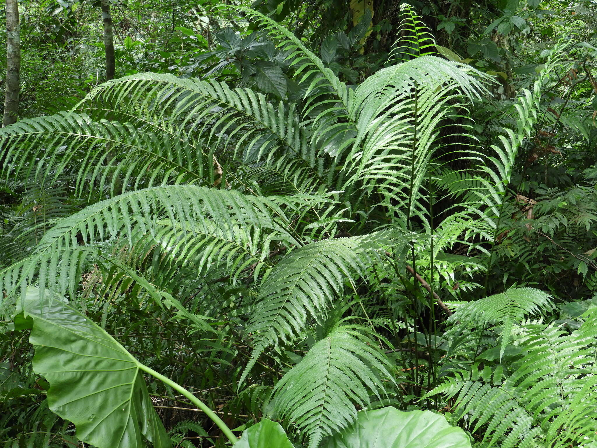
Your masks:
[{"label": "small umbrella-like fern frond with narrow drooping tip, at right", "polygon": [[451,321],[502,325],[500,336],[500,359],[510,342],[512,326],[524,320],[525,315],[552,308],[551,296],[534,288],[510,288],[500,294],[459,306],[451,315]]}]

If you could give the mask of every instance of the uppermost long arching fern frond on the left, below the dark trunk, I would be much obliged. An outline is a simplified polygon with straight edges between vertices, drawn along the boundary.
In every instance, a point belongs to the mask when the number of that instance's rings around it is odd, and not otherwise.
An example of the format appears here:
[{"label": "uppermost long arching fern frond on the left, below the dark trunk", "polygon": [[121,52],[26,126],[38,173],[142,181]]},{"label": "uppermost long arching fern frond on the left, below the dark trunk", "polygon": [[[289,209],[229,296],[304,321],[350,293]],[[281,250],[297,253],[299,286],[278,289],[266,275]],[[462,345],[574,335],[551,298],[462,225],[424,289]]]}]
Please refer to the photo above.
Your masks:
[{"label": "uppermost long arching fern frond on the left, below the dark trunk", "polygon": [[282,149],[314,163],[293,106],[274,106],[263,94],[231,89],[224,82],[138,73],[101,84],[78,109],[121,114],[150,132],[167,130],[181,141],[193,136],[212,152],[230,145],[245,161]]}]

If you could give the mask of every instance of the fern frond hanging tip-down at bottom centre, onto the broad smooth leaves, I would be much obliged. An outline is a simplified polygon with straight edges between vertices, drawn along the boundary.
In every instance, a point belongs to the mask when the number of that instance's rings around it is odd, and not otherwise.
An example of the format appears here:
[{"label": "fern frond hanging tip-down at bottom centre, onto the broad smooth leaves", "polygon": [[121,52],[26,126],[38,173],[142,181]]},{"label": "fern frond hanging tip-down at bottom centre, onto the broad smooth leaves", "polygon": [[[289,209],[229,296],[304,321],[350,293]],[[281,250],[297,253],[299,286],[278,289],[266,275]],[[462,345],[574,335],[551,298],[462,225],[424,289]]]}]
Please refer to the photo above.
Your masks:
[{"label": "fern frond hanging tip-down at bottom centre, onto the broad smooth leaves", "polygon": [[292,422],[316,448],[323,437],[356,419],[353,403],[370,404],[370,395],[393,382],[390,365],[358,327],[336,326],[307,352],[276,385],[269,414]]}]

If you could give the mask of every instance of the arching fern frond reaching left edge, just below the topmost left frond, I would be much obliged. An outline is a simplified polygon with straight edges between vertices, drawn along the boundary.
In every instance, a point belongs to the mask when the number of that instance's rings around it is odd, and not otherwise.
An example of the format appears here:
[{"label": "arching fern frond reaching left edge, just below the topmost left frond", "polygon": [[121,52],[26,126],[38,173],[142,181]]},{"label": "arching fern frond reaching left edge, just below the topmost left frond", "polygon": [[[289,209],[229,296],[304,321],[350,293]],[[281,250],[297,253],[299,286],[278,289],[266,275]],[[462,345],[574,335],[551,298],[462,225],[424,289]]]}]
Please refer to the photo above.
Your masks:
[{"label": "arching fern frond reaching left edge, just below the topmost left frond", "polygon": [[11,176],[53,185],[71,173],[79,194],[90,185],[112,192],[164,183],[199,183],[210,159],[193,149],[193,140],[168,133],[145,133],[131,124],[94,121],[88,115],[21,120],[0,130]]}]

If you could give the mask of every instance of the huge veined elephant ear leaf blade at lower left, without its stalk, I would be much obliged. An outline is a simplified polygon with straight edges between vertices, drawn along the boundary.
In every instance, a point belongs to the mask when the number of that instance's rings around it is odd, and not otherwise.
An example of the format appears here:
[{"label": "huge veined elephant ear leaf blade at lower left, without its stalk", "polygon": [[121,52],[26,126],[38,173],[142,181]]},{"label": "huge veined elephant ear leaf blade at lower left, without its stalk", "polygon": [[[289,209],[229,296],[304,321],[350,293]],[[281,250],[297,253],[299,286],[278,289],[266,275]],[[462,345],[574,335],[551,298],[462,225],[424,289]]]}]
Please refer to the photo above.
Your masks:
[{"label": "huge veined elephant ear leaf blade at lower left, without its stalk", "polygon": [[16,320],[32,318],[33,370],[50,383],[48,406],[97,448],[170,448],[141,364],[66,299],[28,288]]}]

